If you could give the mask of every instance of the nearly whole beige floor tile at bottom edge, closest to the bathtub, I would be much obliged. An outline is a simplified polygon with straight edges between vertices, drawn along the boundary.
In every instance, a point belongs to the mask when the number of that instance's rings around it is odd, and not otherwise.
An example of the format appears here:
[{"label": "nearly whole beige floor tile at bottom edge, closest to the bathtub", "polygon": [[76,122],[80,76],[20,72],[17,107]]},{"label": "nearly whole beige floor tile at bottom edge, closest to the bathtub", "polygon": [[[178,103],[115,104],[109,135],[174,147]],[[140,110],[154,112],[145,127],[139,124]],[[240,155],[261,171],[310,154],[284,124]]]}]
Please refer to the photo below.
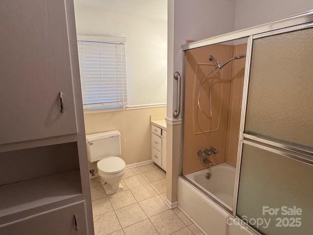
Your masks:
[{"label": "nearly whole beige floor tile at bottom edge, closest to the bathtub", "polygon": [[152,216],[150,221],[160,235],[170,235],[185,227],[184,223],[171,210]]}]

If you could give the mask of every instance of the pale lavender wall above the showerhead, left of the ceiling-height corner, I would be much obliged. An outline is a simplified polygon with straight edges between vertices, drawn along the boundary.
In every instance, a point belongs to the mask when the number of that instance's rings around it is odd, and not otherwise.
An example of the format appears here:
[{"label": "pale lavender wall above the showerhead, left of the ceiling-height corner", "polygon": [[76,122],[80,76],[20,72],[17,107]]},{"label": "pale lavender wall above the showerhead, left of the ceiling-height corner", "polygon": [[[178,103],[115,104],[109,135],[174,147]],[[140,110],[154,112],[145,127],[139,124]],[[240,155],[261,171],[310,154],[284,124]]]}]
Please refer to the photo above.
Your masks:
[{"label": "pale lavender wall above the showerhead, left of the ceiling-height corner", "polygon": [[175,0],[174,70],[181,71],[180,46],[233,31],[235,0]]}]

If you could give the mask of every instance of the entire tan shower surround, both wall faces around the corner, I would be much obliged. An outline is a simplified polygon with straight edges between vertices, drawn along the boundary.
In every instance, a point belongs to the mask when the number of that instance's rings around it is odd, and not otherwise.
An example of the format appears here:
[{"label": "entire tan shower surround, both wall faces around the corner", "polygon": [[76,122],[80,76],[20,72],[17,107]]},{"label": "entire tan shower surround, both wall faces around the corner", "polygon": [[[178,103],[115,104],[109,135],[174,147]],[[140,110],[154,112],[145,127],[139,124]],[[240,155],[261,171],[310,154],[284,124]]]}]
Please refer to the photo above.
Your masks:
[{"label": "entire tan shower surround, both wall faces around the corner", "polygon": [[[224,62],[235,55],[246,54],[246,44],[211,45],[186,52],[183,174],[208,167],[197,152],[209,146],[219,150],[217,155],[209,157],[213,164],[226,162],[236,166],[237,162],[245,59],[234,60],[217,72],[212,89],[212,119],[208,119],[197,102],[201,80],[215,67],[214,62],[208,60],[210,54]],[[207,115],[212,76],[201,90],[200,103]]]}]

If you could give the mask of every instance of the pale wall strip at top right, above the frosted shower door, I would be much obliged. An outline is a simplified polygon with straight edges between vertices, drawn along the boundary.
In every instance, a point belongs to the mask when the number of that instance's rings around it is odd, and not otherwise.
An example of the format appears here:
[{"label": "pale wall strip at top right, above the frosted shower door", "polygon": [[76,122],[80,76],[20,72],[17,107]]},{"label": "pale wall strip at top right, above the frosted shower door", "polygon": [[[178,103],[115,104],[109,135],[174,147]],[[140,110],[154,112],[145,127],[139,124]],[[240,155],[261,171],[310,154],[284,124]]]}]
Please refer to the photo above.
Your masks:
[{"label": "pale wall strip at top right, above the frosted shower door", "polygon": [[313,0],[237,0],[235,30],[313,10]]}]

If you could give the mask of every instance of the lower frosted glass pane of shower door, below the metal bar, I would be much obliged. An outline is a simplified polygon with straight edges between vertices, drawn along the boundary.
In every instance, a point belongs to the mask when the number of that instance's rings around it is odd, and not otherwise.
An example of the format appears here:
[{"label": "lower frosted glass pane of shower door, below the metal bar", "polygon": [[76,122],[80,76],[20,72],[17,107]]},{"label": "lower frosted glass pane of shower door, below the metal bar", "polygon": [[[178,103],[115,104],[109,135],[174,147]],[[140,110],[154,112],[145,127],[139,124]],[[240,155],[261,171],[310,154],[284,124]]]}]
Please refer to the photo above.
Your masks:
[{"label": "lower frosted glass pane of shower door, below the metal bar", "polygon": [[[280,210],[277,216],[268,212],[263,215],[263,206]],[[300,208],[302,214],[282,215],[283,206]],[[267,228],[265,222],[257,228],[266,235],[312,234],[313,166],[244,144],[237,215],[247,216],[252,223],[257,218],[271,219]],[[282,221],[283,227],[276,227],[280,220],[277,218],[287,218]],[[284,227],[299,224],[299,221],[300,227]]]}]

